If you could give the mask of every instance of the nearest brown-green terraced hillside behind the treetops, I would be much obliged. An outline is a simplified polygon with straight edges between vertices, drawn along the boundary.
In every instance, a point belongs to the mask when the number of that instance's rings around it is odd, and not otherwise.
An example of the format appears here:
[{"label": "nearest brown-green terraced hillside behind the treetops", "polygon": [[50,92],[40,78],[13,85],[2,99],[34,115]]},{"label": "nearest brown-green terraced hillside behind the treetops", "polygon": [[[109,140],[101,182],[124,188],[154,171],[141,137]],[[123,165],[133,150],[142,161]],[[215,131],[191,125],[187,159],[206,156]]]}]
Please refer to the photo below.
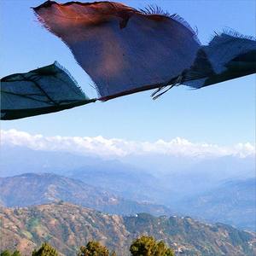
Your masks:
[{"label": "nearest brown-green terraced hillside behind the treetops", "polygon": [[131,241],[142,234],[164,240],[180,255],[253,256],[256,235],[225,224],[202,224],[192,218],[146,213],[120,217],[67,203],[25,208],[0,208],[2,249],[18,247],[22,255],[49,241],[64,255],[75,255],[91,239],[102,241],[118,255],[130,255]]}]

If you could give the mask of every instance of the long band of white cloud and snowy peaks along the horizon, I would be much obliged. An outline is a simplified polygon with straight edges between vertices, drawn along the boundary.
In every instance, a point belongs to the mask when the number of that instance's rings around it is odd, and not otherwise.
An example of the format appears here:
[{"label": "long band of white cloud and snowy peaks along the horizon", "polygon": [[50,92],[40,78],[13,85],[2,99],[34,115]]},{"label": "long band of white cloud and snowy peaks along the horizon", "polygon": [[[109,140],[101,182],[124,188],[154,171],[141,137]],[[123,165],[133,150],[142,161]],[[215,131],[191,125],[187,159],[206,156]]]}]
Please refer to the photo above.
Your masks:
[{"label": "long band of white cloud and snowy peaks along the horizon", "polygon": [[171,141],[158,140],[154,143],[106,139],[98,137],[44,137],[25,131],[1,131],[1,144],[26,146],[36,150],[67,151],[79,154],[94,154],[101,157],[123,157],[129,154],[166,154],[181,156],[224,156],[246,157],[255,154],[251,143],[238,143],[234,146],[219,146],[209,143],[191,143],[184,138]]}]

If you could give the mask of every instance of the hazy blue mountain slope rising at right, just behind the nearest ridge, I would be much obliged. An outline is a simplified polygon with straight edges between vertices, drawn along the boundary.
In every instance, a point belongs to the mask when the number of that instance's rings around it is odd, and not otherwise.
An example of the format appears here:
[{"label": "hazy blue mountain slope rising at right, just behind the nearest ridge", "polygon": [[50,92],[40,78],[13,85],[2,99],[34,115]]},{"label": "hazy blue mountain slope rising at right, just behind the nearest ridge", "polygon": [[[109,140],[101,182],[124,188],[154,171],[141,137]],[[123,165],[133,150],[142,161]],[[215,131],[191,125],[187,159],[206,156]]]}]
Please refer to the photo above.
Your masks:
[{"label": "hazy blue mountain slope rising at right, just behind the nearest ridge", "polygon": [[229,181],[175,204],[186,214],[256,230],[256,178]]}]

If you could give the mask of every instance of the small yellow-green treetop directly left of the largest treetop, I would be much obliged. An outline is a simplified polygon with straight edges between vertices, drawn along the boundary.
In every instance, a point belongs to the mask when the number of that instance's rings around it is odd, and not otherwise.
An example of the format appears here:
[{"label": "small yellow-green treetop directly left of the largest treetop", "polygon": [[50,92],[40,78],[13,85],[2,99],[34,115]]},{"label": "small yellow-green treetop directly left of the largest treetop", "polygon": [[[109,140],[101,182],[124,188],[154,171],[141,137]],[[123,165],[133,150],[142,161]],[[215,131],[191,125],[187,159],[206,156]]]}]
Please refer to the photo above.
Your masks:
[{"label": "small yellow-green treetop directly left of the largest treetop", "polygon": [[86,247],[80,247],[78,256],[108,256],[108,248],[99,241],[89,241]]}]

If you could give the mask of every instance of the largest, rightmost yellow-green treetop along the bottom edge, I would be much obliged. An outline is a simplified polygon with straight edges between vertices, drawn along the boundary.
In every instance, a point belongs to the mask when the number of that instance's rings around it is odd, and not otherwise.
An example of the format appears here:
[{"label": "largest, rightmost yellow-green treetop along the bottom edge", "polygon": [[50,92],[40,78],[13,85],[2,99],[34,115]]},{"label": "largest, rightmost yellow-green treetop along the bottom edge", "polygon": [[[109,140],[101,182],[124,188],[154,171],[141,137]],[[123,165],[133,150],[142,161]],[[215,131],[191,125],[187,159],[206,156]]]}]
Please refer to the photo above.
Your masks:
[{"label": "largest, rightmost yellow-green treetop along the bottom edge", "polygon": [[163,241],[155,241],[152,236],[141,236],[131,243],[132,256],[174,256],[171,248]]}]

